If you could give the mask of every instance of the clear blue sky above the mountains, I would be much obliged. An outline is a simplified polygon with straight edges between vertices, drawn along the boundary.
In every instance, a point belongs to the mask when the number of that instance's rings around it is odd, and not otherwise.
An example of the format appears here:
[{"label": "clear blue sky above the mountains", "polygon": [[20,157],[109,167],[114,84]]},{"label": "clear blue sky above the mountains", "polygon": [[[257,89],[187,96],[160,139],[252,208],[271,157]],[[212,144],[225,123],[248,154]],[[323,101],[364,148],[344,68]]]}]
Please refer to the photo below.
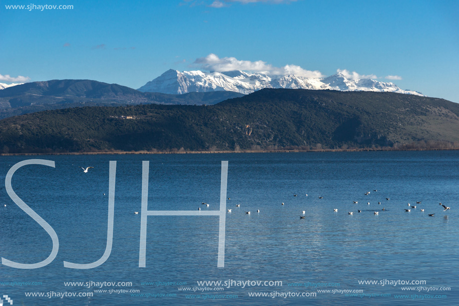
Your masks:
[{"label": "clear blue sky above the mountains", "polygon": [[[74,8],[5,7],[31,4]],[[323,76],[346,69],[459,102],[458,12],[457,1],[6,0],[0,82],[92,79],[139,88],[171,68],[201,69],[196,59],[215,54]]]}]

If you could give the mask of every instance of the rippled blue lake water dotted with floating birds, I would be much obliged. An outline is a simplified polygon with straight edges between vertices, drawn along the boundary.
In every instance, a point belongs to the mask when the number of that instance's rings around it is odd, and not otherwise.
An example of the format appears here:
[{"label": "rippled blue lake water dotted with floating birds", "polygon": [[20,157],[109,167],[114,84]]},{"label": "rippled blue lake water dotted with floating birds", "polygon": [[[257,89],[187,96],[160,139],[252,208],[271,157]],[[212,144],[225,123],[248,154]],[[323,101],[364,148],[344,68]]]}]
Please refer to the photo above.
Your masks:
[{"label": "rippled blue lake water dotted with floating birds", "polygon": [[[53,160],[56,168],[22,167],[12,185],[21,199],[54,228],[60,246],[56,259],[39,269],[0,265],[0,282],[4,282],[0,283],[0,294],[8,294],[15,305],[452,305],[459,298],[457,151],[3,156],[0,256],[21,263],[42,261],[52,249],[47,232],[5,190],[8,170],[19,161],[33,158]],[[64,260],[90,263],[105,251],[110,160],[117,161],[112,253],[97,268],[65,268]],[[217,268],[216,216],[149,216],[146,267],[138,267],[141,216],[134,211],[141,211],[143,160],[150,161],[149,210],[218,210],[220,165],[228,160],[227,196],[231,199],[227,208],[232,212],[226,215],[224,268]],[[78,166],[94,169],[83,173]],[[370,194],[364,195],[367,191]],[[443,212],[439,202],[451,209]],[[405,212],[407,203],[417,208]],[[334,208],[338,212],[333,212]],[[362,212],[357,213],[357,209]],[[248,210],[250,215],[244,213]],[[305,219],[299,217],[302,210],[306,211]],[[375,210],[379,215],[374,215]],[[354,214],[348,215],[349,211]],[[435,215],[429,217],[428,213]],[[283,285],[178,290],[196,287],[198,280],[228,279],[282,281]],[[406,285],[358,283],[383,279],[425,280],[423,287],[451,289],[403,291],[401,287]],[[132,282],[132,286],[87,288],[64,284],[90,281]],[[186,285],[141,284],[157,281]],[[290,282],[339,286],[288,286]],[[140,294],[176,296],[136,297],[94,289],[134,289]],[[350,297],[317,289],[363,290],[365,294],[391,296]],[[94,296],[46,297],[52,291],[94,292]],[[249,296],[252,292],[275,291],[315,292],[316,296]],[[45,296],[28,297],[26,292],[44,292]],[[188,294],[237,298],[186,298]],[[396,294],[444,294],[446,298],[402,299],[395,298]]]}]

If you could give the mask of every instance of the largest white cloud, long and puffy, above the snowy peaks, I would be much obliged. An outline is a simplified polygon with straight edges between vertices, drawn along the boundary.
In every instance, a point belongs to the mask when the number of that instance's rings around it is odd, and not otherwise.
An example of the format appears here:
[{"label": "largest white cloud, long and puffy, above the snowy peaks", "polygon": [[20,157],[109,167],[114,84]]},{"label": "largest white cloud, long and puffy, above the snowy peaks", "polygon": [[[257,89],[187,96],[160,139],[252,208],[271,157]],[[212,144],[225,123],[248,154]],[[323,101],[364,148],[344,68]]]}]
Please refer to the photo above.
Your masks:
[{"label": "largest white cloud, long and puffy, above the snowy peaks", "polygon": [[296,65],[285,65],[284,67],[273,67],[263,61],[240,61],[233,57],[219,58],[217,55],[211,53],[204,58],[198,58],[194,62],[202,70],[209,71],[233,71],[244,70],[252,72],[266,72],[272,75],[295,75],[305,78],[321,78],[323,77],[320,71],[310,71]]}]

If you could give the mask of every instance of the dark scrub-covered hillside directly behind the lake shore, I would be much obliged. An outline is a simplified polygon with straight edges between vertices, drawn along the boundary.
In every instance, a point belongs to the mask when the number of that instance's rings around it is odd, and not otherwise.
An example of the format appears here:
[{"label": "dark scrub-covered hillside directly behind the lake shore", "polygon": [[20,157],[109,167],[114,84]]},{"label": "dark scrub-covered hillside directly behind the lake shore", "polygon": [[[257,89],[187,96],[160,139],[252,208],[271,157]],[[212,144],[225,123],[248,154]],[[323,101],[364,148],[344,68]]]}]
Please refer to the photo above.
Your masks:
[{"label": "dark scrub-covered hillside directly behind the lake shore", "polygon": [[0,120],[3,152],[459,144],[459,104],[396,93],[263,89],[209,106],[44,111]]}]

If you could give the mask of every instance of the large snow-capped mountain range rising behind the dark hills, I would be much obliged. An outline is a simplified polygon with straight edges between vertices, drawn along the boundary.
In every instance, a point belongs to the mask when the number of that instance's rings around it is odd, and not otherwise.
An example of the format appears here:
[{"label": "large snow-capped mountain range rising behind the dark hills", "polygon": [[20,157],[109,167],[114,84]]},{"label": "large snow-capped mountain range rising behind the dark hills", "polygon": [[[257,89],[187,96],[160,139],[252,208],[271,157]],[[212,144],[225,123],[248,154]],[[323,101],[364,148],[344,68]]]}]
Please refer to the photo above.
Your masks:
[{"label": "large snow-capped mountain range rising behind the dark hills", "polygon": [[410,90],[401,90],[393,83],[371,79],[352,80],[338,72],[327,78],[305,78],[294,75],[275,76],[266,73],[247,73],[244,71],[202,72],[168,70],[138,90],[166,94],[185,94],[189,92],[234,91],[250,94],[262,88],[291,89],[333,89],[340,91],[395,92],[423,96]]}]

